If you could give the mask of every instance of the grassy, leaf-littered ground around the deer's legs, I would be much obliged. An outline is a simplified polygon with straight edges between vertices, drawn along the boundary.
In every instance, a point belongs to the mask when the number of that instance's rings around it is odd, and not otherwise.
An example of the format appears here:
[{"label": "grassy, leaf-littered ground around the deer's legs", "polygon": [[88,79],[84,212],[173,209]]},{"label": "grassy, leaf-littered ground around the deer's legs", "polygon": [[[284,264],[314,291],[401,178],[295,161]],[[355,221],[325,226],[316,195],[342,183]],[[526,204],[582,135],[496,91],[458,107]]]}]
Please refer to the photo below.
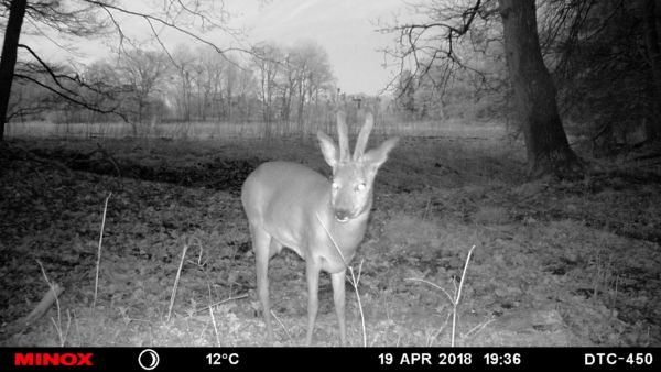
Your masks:
[{"label": "grassy, leaf-littered ground around the deer's legs", "polygon": [[[264,344],[240,185],[277,158],[328,174],[311,135],[191,134],[207,128],[89,141],[23,130],[0,147],[0,344]],[[453,294],[473,245],[455,344],[661,346],[658,157],[582,154],[585,179],[528,182],[522,144],[500,125],[400,130],[353,261],[368,346],[449,346],[455,309],[438,287]],[[286,253],[270,267],[277,344],[302,344],[304,263]],[[46,277],[64,292],[25,326]],[[349,287],[347,331],[362,344]],[[337,343],[322,275],[314,344]]]}]

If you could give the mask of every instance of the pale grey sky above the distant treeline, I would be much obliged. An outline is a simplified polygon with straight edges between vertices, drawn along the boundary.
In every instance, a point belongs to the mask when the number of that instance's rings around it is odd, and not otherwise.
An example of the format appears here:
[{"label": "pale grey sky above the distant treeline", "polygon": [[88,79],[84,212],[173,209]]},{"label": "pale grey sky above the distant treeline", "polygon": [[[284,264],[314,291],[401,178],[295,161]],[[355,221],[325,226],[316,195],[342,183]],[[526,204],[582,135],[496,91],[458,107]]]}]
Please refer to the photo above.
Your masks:
[{"label": "pale grey sky above the distant treeline", "polygon": [[[152,0],[155,1],[155,0]],[[149,1],[123,1],[128,9],[144,11]],[[162,1],[155,1],[162,4]],[[327,52],[337,86],[347,94],[377,95],[392,79],[395,68],[386,68],[382,50],[393,45],[393,34],[376,30],[379,20],[392,23],[394,14],[404,9],[403,0],[225,0],[230,13],[230,25],[246,30],[248,43],[262,41],[292,45],[300,41],[313,41]],[[142,8],[142,9],[140,9]],[[147,24],[139,20],[122,20],[127,34],[148,35]],[[123,22],[122,22],[123,21]],[[34,25],[26,24],[34,28]],[[34,31],[34,30],[33,30]],[[165,46],[185,43],[194,47],[188,36],[166,32]],[[205,34],[214,43],[223,45],[225,35]],[[61,34],[47,37],[24,34],[22,41],[36,43],[39,53],[46,61],[66,59],[91,62],[110,55],[112,42],[99,40],[63,40]],[[53,43],[56,41],[56,43]],[[392,65],[393,61],[389,63]]]}]

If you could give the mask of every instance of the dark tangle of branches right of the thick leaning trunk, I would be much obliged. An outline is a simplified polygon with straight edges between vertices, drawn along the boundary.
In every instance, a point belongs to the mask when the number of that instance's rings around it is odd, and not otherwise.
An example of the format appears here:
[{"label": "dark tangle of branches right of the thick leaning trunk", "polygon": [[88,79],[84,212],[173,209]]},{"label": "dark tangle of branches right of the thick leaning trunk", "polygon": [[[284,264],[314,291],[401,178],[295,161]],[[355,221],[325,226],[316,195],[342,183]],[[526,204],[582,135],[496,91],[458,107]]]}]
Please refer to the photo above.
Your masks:
[{"label": "dark tangle of branches right of the thick leaning trunk", "polygon": [[629,141],[659,140],[658,3],[538,3],[540,45],[557,87],[561,114],[581,123],[595,155]]}]

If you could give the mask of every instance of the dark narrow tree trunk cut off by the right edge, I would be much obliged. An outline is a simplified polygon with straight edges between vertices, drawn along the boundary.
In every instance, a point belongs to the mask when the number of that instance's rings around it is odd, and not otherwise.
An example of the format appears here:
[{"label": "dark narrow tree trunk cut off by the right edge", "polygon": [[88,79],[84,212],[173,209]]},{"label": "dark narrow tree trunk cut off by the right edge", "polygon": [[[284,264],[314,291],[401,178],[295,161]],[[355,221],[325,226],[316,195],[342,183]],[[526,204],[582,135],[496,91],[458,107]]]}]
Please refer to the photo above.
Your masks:
[{"label": "dark narrow tree trunk cut off by the right edge", "polygon": [[642,8],[644,44],[652,70],[652,118],[648,120],[646,132],[648,140],[661,138],[661,48],[659,47],[659,33],[657,30],[655,0],[644,0]]}]

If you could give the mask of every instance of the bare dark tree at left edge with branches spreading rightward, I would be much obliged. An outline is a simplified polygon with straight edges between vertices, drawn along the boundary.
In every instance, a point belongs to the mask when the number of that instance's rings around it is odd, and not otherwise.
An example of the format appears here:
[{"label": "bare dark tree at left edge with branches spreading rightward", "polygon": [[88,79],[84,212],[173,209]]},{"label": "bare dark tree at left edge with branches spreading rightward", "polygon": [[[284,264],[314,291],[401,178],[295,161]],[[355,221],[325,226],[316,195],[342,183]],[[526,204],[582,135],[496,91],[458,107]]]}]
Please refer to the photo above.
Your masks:
[{"label": "bare dark tree at left edge with branches spreading rightward", "polygon": [[[112,33],[118,36],[120,50],[127,43],[132,43],[123,32],[122,26],[122,22],[126,22],[128,19],[129,22],[134,22],[136,20],[144,22],[150,28],[153,39],[163,47],[165,46],[160,39],[160,33],[166,28],[176,30],[197,42],[207,44],[214,47],[219,54],[224,54],[230,50],[249,52],[241,48],[220,48],[193,31],[202,24],[206,31],[219,29],[227,34],[238,37],[238,33],[235,30],[225,26],[228,14],[224,10],[221,2],[220,6],[217,6],[214,2],[202,0],[166,0],[163,1],[160,11],[155,10],[154,12],[133,11],[129,8],[118,6],[115,0],[4,0],[0,1],[0,7],[4,10],[0,12],[1,17],[6,14],[8,17],[4,44],[2,55],[0,56],[0,140],[4,138],[4,124],[7,122],[7,110],[13,78],[31,79],[30,76],[17,76],[14,74],[18,48],[23,47],[30,51],[30,54],[43,66],[44,70],[52,72],[52,68],[32,48],[28,45],[19,44],[25,18],[29,19],[31,24],[42,25],[46,30],[50,29],[74,36],[93,37],[99,34]],[[122,17],[120,18],[119,15]],[[74,81],[76,80],[76,76],[64,77],[51,74],[51,79],[52,85],[44,86],[44,88],[87,109],[102,111],[102,109],[82,100],[80,97],[72,96],[67,89],[62,89],[62,84],[58,84],[59,80],[68,79]],[[37,79],[32,78],[32,81],[39,84]]]}]

